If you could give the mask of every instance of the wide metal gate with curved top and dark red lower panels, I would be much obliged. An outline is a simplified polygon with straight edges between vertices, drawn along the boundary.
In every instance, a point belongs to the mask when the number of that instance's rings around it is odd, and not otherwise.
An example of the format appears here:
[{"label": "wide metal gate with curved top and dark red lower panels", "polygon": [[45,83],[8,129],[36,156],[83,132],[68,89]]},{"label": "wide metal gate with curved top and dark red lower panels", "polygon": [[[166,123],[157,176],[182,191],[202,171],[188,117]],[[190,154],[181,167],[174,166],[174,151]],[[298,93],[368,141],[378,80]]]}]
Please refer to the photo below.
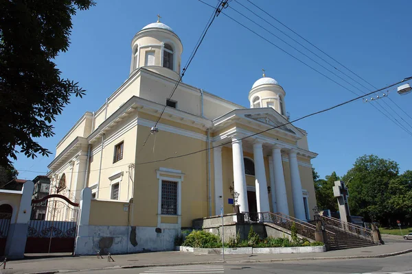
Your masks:
[{"label": "wide metal gate with curved top and dark red lower panels", "polygon": [[73,253],[78,206],[58,194],[32,200],[25,253]]}]

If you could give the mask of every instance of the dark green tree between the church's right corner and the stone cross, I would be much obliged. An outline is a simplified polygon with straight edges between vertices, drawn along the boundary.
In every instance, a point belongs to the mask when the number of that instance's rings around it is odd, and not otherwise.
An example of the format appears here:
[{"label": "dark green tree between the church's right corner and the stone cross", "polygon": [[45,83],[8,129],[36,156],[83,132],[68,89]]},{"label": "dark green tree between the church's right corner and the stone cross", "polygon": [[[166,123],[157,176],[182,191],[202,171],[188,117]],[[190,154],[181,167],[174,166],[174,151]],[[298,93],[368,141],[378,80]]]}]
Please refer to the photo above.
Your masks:
[{"label": "dark green tree between the church's right corner and the stone cross", "polygon": [[318,208],[336,212],[336,210],[338,210],[338,204],[333,195],[333,186],[334,182],[340,179],[339,176],[336,175],[336,172],[332,172],[331,175],[325,176],[325,179],[319,179],[318,173],[314,171],[313,168],[312,176]]}]

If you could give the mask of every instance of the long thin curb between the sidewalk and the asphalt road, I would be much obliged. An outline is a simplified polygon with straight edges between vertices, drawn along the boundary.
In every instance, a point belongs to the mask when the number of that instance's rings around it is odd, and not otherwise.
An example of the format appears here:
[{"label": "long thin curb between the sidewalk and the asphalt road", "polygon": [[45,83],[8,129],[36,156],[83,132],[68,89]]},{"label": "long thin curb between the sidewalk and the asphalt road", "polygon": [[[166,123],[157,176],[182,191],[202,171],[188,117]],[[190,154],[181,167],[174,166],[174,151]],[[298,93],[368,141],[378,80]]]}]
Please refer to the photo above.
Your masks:
[{"label": "long thin curb between the sidewalk and the asphalt road", "polygon": [[54,273],[71,273],[71,272],[84,272],[84,271],[102,271],[108,269],[142,269],[145,267],[156,267],[156,266],[184,266],[184,265],[194,265],[194,264],[231,264],[231,263],[241,263],[241,264],[252,264],[257,262],[291,262],[291,261],[308,261],[308,260],[351,260],[351,259],[367,259],[367,258],[387,258],[392,256],[398,256],[405,253],[411,253],[412,249],[407,249],[404,251],[398,251],[393,253],[384,253],[379,255],[359,255],[359,256],[337,256],[337,257],[315,257],[315,258],[283,258],[283,259],[268,259],[268,260],[229,260],[229,261],[208,261],[208,262],[181,262],[172,264],[136,264],[127,266],[110,266],[102,267],[97,269],[82,269],[82,270],[57,270],[57,271],[43,271],[43,272],[31,272],[27,274],[54,274]]}]

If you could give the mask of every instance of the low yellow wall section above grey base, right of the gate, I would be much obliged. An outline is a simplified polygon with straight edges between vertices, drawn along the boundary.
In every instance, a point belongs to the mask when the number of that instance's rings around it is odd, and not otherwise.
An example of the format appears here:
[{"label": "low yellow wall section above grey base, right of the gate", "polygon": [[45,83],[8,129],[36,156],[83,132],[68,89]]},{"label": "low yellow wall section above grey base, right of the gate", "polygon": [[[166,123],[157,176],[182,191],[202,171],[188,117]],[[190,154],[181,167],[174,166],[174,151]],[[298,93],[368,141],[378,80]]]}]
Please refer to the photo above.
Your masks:
[{"label": "low yellow wall section above grey base, right of the gate", "polygon": [[128,225],[124,202],[91,200],[89,225]]}]

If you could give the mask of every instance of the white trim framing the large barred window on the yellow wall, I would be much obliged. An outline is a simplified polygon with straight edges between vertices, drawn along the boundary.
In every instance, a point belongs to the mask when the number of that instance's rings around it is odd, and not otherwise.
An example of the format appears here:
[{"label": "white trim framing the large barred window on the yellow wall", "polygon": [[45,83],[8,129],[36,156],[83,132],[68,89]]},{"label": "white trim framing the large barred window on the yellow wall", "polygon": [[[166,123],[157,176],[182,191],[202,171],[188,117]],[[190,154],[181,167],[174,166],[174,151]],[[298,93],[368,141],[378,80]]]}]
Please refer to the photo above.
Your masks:
[{"label": "white trim framing the large barred window on the yellow wall", "polygon": [[[160,168],[156,171],[157,179],[159,179],[159,193],[157,199],[157,227],[162,229],[180,229],[182,223],[182,182],[185,173],[176,169]],[[172,177],[173,176],[173,177]],[[177,215],[164,215],[161,214],[161,181],[177,182]],[[161,223],[161,217],[176,217],[177,223]]]}]

